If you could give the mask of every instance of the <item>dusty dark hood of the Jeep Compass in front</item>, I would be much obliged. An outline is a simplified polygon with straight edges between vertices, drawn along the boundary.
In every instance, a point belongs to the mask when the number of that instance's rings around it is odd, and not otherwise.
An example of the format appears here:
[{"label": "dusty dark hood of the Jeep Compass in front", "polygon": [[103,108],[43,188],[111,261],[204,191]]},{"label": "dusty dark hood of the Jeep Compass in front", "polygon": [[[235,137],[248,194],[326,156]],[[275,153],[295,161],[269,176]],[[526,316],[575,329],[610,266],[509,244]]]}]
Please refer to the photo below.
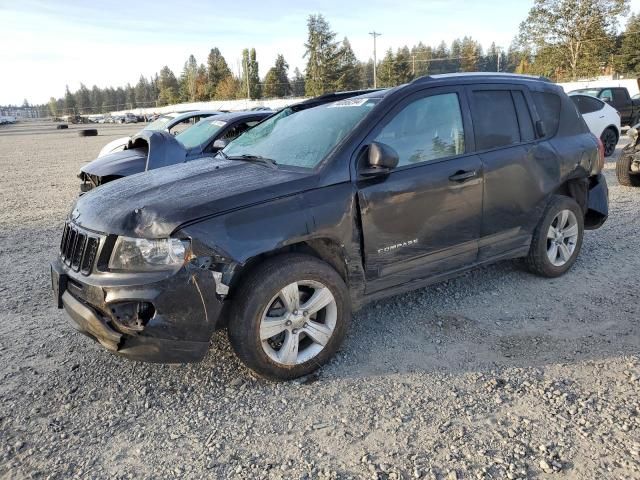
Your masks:
[{"label": "dusty dark hood of the Jeep Compass in front", "polygon": [[70,219],[101,233],[168,237],[187,222],[311,188],[311,172],[204,158],[110,182],[76,201]]}]

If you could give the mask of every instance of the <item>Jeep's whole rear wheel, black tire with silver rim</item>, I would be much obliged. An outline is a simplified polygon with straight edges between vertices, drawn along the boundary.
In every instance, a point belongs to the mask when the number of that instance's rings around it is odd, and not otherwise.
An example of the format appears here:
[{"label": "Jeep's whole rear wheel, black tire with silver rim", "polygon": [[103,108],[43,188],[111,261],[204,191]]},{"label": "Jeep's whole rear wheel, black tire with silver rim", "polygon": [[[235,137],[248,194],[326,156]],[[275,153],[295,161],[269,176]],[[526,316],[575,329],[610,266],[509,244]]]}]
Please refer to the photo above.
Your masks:
[{"label": "Jeep's whole rear wheel, black tire with silver rim", "polygon": [[559,277],[575,263],[583,236],[580,206],[573,198],[554,195],[533,232],[525,265],[536,275]]}]

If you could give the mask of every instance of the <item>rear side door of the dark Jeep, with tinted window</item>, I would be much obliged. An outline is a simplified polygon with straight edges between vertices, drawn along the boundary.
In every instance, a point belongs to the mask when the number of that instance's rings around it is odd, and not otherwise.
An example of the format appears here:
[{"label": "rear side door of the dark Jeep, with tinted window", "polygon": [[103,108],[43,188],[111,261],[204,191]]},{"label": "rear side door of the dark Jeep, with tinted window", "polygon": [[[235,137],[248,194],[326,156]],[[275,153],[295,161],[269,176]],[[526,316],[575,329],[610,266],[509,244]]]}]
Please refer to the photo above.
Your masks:
[{"label": "rear side door of the dark Jeep, with tinted window", "polygon": [[482,261],[528,246],[531,221],[537,218],[544,198],[540,180],[547,156],[536,142],[526,88],[480,85],[468,87],[467,94],[485,181],[479,241]]}]

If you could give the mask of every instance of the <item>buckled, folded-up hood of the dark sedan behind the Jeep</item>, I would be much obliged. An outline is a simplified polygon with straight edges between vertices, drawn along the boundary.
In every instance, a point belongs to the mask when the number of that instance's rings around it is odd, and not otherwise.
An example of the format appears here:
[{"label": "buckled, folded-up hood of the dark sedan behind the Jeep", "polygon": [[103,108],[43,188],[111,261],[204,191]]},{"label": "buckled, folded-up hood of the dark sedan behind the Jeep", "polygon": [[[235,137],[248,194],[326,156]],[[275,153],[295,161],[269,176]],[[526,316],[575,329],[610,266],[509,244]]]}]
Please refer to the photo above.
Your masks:
[{"label": "buckled, folded-up hood of the dark sedan behind the Jeep", "polygon": [[186,156],[187,151],[184,146],[170,133],[142,130],[131,137],[127,150],[98,157],[81,170],[99,177],[107,175],[126,177],[145,170],[182,163]]}]

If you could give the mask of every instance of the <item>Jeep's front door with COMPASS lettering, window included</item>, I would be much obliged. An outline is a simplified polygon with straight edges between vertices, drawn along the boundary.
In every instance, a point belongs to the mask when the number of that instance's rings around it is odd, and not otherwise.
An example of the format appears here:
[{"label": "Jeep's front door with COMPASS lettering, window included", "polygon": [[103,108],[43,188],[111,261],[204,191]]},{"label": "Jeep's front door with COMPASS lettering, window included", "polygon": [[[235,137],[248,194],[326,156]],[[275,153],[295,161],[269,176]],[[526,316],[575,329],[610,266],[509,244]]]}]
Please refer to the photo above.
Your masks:
[{"label": "Jeep's front door with COMPASS lettering, window included", "polygon": [[462,90],[427,89],[400,102],[365,141],[400,158],[387,176],[357,182],[367,293],[475,262],[483,172],[467,153],[463,112]]}]

